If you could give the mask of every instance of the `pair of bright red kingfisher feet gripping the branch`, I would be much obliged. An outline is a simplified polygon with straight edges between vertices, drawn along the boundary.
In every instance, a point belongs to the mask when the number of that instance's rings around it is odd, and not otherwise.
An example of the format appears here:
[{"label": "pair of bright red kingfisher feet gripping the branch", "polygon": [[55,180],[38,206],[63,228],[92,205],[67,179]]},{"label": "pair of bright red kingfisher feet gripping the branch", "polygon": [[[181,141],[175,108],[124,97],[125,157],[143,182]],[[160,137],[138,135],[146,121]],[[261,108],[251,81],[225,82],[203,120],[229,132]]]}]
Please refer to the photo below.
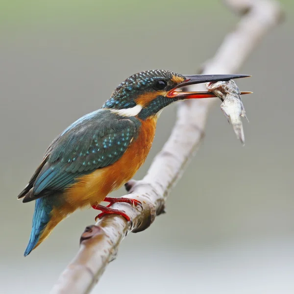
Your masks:
[{"label": "pair of bright red kingfisher feet gripping the branch", "polygon": [[123,213],[120,210],[113,209],[113,208],[110,208],[109,207],[113,203],[124,202],[124,203],[129,203],[129,204],[131,204],[133,206],[141,206],[141,208],[142,208],[142,203],[139,200],[131,199],[131,198],[123,198],[123,197],[122,198],[112,198],[112,197],[105,197],[104,198],[104,201],[110,202],[110,203],[106,207],[103,206],[103,205],[100,205],[100,204],[93,205],[92,206],[94,209],[97,209],[97,210],[101,210],[102,211],[95,218],[95,221],[97,221],[98,219],[100,219],[101,217],[103,217],[106,214],[118,214],[118,215],[124,217],[126,219],[126,221],[130,221],[130,218],[125,213]]}]

